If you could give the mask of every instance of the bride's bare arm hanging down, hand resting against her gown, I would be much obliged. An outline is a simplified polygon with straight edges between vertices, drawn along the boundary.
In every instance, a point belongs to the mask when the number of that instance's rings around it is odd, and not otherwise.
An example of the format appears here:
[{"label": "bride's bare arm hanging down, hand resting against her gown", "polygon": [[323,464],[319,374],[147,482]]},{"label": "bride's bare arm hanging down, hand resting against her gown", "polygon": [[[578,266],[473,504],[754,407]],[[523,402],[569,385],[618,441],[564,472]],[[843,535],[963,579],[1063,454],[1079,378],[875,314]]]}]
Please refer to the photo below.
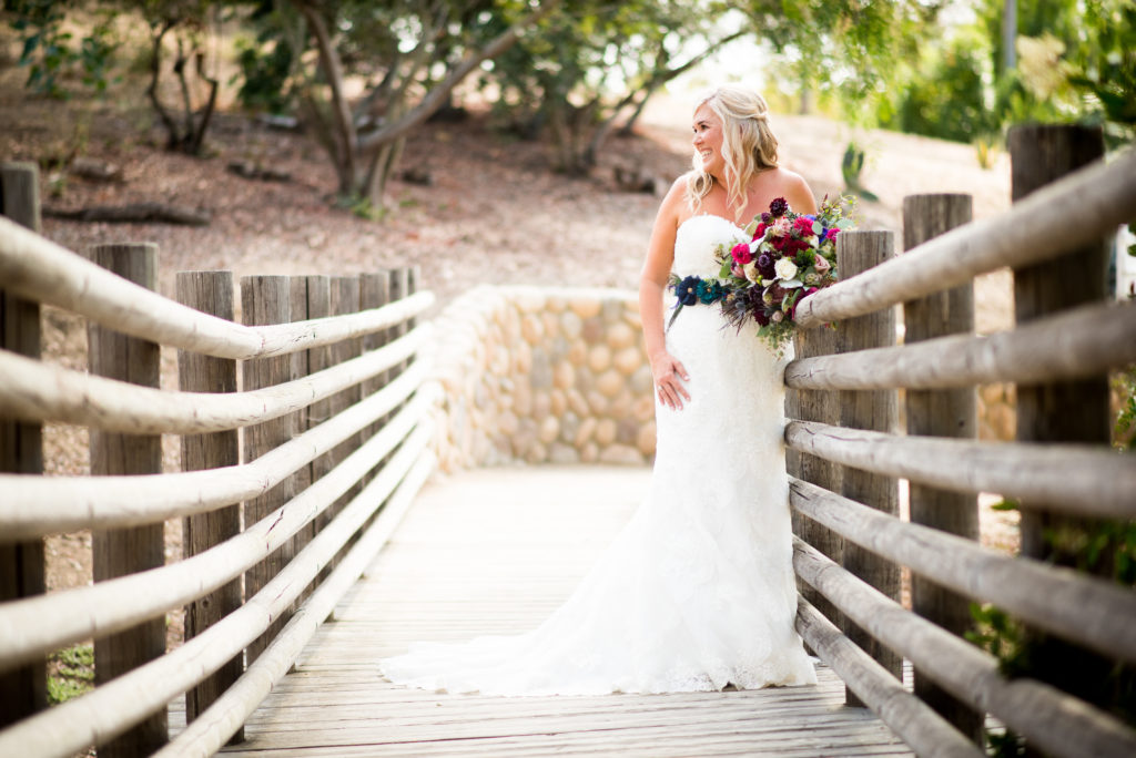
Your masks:
[{"label": "bride's bare arm hanging down, hand resting against her gown", "polygon": [[667,352],[663,328],[663,293],[670,279],[670,268],[675,260],[675,233],[678,229],[679,212],[684,204],[686,182],[679,177],[659,207],[651,230],[646,260],[640,276],[640,319],[643,322],[643,339],[646,344],[651,373],[654,376],[659,398],[670,407],[683,407],[683,399],[690,399],[679,378],[688,380],[686,369]]}]

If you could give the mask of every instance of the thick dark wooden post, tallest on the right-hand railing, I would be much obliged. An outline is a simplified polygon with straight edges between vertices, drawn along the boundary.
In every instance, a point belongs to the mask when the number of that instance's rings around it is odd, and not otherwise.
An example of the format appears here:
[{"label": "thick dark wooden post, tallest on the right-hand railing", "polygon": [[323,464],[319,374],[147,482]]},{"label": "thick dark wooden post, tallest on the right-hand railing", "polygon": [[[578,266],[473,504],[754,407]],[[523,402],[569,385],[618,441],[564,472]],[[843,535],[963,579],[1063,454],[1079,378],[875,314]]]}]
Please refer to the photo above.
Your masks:
[{"label": "thick dark wooden post, tallest on the right-hand railing", "polygon": [[[1100,159],[1104,141],[1100,127],[1028,125],[1011,129],[1012,196],[1017,202],[1035,189]],[[1076,209],[1071,209],[1076,216]],[[1051,261],[1013,272],[1014,315],[1019,326],[1076,305],[1105,300],[1109,243],[1086,239],[1084,246]],[[1108,445],[1109,385],[1105,376],[1076,381],[1018,386],[1018,439],[1037,443]],[[1046,534],[1080,534],[1100,522],[1058,517],[1033,508],[1021,513],[1021,553],[1061,565],[1075,565],[1076,555]],[[1072,540],[1076,542],[1076,539]],[[1109,562],[1095,567],[1111,574]],[[1052,637],[1031,633],[1030,675],[1089,702],[1109,707],[1104,683],[1113,663]]]}]

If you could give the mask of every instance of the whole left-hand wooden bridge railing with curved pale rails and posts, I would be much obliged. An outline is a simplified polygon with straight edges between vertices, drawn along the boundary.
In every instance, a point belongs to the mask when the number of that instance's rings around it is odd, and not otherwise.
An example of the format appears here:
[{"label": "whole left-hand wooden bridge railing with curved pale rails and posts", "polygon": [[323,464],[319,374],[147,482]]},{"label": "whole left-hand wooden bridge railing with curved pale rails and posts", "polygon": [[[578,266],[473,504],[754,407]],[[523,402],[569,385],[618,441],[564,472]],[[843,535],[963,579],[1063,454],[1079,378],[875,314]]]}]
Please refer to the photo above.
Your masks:
[{"label": "whole left-hand wooden bridge railing with curved pale rails and posts", "polygon": [[[34,166],[0,178],[0,209],[37,228]],[[210,755],[239,740],[433,468],[437,388],[415,325],[433,296],[412,294],[414,270],[245,277],[239,325],[229,272],[178,273],[173,302],[152,290],[156,253],[105,245],[85,260],[0,219],[3,756]],[[89,373],[39,361],[40,303],[90,321]],[[159,388],[159,345],[178,348],[177,391]],[[92,475],[35,475],[48,421],[90,427]],[[182,436],[183,471],[162,473],[161,435]],[[174,517],[184,558],[166,565]],[[44,595],[42,538],[80,529],[95,582]],[[186,639],[167,650],[165,615],[181,607]],[[92,638],[98,687],[43,709],[45,656]],[[169,742],[182,693],[190,723]]]}]

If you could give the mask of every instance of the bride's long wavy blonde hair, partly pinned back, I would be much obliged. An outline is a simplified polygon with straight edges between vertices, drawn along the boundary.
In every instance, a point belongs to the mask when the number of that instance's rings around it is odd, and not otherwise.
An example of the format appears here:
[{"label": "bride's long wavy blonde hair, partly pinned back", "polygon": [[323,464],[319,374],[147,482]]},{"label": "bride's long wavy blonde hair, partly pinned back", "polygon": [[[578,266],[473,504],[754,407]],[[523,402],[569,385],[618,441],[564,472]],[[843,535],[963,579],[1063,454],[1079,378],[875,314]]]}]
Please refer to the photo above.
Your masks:
[{"label": "bride's long wavy blonde hair, partly pinned back", "polygon": [[[721,119],[721,157],[726,162],[726,202],[733,207],[735,220],[745,210],[745,187],[761,171],[777,168],[777,137],[769,126],[769,106],[757,92],[740,86],[721,86],[699,100]],[[686,202],[698,212],[702,199],[710,194],[715,179],[702,169],[695,153],[694,170],[686,178]]]}]

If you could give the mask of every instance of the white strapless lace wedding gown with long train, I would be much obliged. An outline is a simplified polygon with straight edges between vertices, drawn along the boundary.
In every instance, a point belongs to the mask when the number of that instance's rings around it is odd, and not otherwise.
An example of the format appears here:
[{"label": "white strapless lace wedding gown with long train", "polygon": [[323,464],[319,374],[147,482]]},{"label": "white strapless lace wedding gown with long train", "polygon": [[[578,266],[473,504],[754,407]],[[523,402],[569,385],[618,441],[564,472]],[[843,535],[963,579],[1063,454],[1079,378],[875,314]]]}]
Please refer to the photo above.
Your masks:
[{"label": "white strapless lace wedding gown with long train", "polygon": [[[686,220],[674,272],[716,275],[716,246],[735,239],[744,233],[721,217]],[[677,411],[657,399],[650,490],[571,597],[528,633],[420,643],[381,662],[384,676],[506,696],[816,682],[793,630],[784,359],[754,329],[722,328],[717,305],[684,308],[667,346],[691,399]]]}]

